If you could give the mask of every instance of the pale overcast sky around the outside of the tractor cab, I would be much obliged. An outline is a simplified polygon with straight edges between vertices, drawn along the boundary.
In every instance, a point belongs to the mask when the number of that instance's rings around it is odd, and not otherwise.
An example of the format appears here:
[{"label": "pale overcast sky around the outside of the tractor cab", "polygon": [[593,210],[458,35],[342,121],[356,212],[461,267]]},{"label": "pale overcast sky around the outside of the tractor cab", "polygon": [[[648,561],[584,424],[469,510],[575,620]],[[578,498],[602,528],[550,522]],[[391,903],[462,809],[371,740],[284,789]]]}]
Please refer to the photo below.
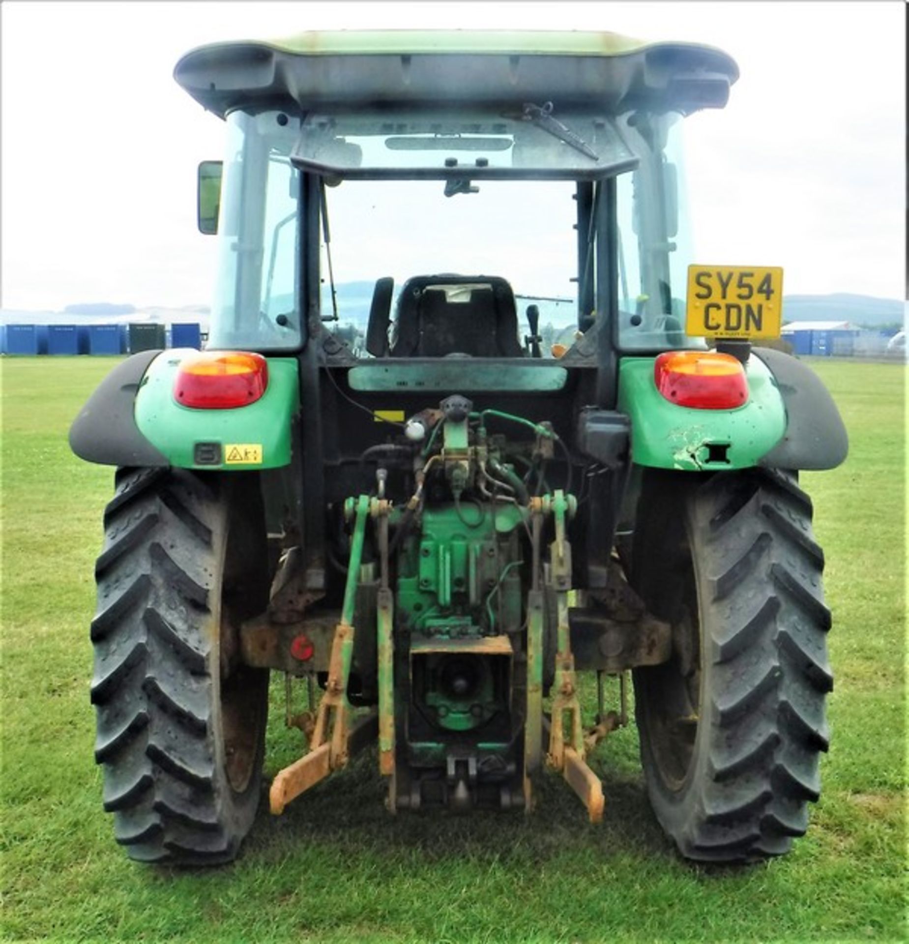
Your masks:
[{"label": "pale overcast sky around the outside of the tractor cab", "polygon": [[195,167],[223,124],[179,56],[306,29],[610,30],[741,69],[688,120],[698,260],[783,265],[787,294],[905,291],[905,7],[841,3],[25,3],[2,17],[2,305],[210,302]]}]

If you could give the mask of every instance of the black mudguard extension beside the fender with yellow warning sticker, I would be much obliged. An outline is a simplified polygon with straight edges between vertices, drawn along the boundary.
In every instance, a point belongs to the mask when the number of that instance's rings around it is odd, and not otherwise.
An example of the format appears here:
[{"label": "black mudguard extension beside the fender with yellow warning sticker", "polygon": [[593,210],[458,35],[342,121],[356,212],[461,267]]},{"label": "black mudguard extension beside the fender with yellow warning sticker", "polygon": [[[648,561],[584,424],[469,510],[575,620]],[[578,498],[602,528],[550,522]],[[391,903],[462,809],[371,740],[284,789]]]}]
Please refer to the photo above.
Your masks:
[{"label": "black mudguard extension beside the fender with yellow warning sticker", "polygon": [[70,427],[70,448],[101,465],[170,465],[136,426],[133,404],[148,365],[160,350],[141,351],[103,379]]}]

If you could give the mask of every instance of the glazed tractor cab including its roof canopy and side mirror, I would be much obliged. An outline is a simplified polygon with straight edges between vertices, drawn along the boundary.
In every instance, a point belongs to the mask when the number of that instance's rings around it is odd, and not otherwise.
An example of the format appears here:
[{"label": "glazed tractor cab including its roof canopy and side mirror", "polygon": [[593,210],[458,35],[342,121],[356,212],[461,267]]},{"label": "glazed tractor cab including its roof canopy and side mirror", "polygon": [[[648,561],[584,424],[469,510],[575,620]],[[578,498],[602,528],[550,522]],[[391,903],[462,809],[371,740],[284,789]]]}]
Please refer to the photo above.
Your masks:
[{"label": "glazed tractor cab including its roof canopy and side mirror", "polygon": [[[206,47],[176,75],[227,122],[223,178],[207,162],[200,181],[200,223],[219,240],[211,346],[330,335],[358,359],[457,354],[413,342],[407,300],[402,341],[383,343],[385,279],[397,314],[409,279],[473,272],[511,285],[518,324],[489,346],[475,324],[472,356],[523,356],[538,324],[532,353],[551,359],[597,319],[604,352],[692,345],[681,127],[726,102],[737,70],[718,50],[612,34],[308,34]],[[440,293],[421,297],[420,310]],[[483,296],[447,297],[466,313]]]}]

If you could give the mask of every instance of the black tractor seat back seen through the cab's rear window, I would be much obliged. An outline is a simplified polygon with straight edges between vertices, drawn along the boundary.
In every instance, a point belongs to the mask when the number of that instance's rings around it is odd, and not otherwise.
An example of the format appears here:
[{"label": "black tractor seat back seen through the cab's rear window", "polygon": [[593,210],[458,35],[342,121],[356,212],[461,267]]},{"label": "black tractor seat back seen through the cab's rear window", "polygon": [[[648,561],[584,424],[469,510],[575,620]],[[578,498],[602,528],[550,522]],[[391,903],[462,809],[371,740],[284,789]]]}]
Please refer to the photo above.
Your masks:
[{"label": "black tractor seat back seen through the cab's rear window", "polygon": [[392,357],[523,357],[514,293],[497,276],[416,276],[397,299]]}]

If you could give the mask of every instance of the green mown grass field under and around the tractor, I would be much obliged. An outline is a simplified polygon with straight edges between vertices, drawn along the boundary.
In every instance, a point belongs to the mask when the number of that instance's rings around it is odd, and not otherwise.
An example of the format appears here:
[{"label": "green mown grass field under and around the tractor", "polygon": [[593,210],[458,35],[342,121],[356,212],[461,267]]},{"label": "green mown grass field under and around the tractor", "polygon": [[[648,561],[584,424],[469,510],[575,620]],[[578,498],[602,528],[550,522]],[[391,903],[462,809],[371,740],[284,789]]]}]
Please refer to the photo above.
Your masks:
[{"label": "green mown grass field under and around the tractor", "polygon": [[[5,939],[294,941],[905,940],[904,454],[897,364],[816,362],[850,430],[847,464],[806,475],[836,687],[808,834],[744,869],[684,863],[650,815],[633,726],[598,748],[592,827],[561,781],[539,812],[384,810],[375,753],[271,818],[215,871],[129,863],[93,762],[93,559],[109,468],[66,430],[112,362],[4,359]],[[299,749],[275,686],[271,775]]]}]

